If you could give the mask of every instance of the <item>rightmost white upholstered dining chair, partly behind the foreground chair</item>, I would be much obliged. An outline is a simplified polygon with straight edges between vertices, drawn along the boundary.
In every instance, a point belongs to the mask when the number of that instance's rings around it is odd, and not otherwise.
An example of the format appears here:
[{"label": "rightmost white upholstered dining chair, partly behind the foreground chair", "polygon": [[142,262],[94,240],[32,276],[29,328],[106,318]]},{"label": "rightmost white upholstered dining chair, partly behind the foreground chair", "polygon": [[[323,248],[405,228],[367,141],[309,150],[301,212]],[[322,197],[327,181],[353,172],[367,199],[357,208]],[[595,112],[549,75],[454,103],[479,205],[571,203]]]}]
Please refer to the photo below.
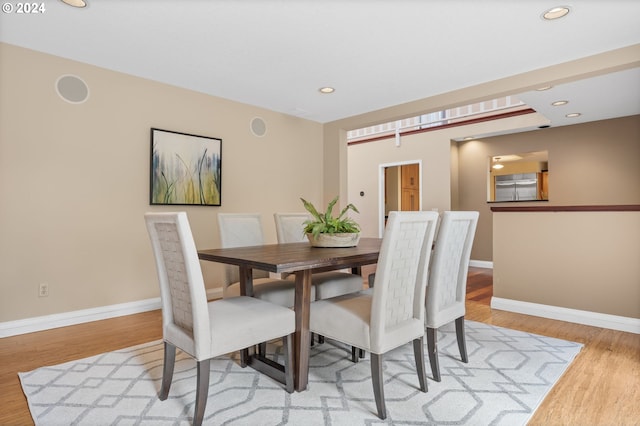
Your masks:
[{"label": "rightmost white upholstered dining chair, partly behind the foreground chair", "polygon": [[426,298],[427,352],[433,379],[440,381],[438,328],[455,321],[462,362],[468,362],[464,336],[467,275],[478,212],[446,211],[442,214],[435,243]]}]

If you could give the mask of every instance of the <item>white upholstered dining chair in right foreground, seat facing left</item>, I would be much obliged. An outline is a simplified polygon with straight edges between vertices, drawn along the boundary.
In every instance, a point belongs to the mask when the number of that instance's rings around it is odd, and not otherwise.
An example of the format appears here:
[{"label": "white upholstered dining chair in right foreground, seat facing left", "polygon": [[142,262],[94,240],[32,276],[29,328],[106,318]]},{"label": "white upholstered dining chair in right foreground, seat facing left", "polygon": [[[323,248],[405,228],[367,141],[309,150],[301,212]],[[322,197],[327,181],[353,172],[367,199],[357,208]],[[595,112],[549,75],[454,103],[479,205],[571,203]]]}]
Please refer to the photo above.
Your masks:
[{"label": "white upholstered dining chair in right foreground, seat facing left", "polygon": [[371,354],[378,417],[386,418],[382,355],[413,341],[420,390],[424,371],[425,292],[438,213],[391,212],[382,240],[375,285],[311,304],[309,329]]}]

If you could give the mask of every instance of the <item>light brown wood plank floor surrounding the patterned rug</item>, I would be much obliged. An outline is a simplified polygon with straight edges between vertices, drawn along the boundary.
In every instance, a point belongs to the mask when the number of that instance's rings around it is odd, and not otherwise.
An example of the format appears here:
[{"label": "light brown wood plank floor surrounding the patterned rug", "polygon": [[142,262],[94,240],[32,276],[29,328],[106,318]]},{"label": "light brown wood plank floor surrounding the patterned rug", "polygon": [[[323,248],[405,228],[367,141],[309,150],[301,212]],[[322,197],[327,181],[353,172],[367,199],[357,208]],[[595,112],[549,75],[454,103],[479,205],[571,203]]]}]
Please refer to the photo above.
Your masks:
[{"label": "light brown wood plank floor surrounding the patterned rug", "polygon": [[[584,344],[530,424],[640,425],[639,335],[491,310],[492,294],[492,271],[471,268],[466,317]],[[19,371],[157,340],[161,327],[153,311],[0,339],[0,425],[33,424]]]}]

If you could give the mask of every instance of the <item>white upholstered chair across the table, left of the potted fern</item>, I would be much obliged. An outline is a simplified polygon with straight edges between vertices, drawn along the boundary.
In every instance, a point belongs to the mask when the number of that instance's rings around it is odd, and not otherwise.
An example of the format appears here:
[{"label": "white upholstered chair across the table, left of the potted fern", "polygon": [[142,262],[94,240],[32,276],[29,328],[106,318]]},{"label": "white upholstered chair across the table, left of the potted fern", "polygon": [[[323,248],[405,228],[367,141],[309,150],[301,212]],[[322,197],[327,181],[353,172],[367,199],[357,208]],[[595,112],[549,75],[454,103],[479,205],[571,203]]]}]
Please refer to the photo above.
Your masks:
[{"label": "white upholstered chair across the table, left of the potted fern", "polygon": [[[262,218],[259,213],[218,213],[218,229],[222,248],[258,246],[264,244]],[[240,295],[238,267],[224,265],[223,297]],[[267,271],[253,271],[253,297],[278,305],[292,307],[295,302],[295,282],[272,278]],[[311,289],[311,300],[315,290]]]}]

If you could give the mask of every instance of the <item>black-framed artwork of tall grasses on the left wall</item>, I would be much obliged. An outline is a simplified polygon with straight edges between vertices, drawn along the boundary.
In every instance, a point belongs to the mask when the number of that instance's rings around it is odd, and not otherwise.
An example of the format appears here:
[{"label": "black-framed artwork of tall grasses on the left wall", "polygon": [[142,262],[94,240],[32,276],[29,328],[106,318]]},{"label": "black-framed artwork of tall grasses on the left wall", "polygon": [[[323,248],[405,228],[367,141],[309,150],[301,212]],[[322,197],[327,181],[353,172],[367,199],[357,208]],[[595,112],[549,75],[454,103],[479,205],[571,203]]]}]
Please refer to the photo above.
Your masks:
[{"label": "black-framed artwork of tall grasses on the left wall", "polygon": [[219,206],[222,139],[151,129],[152,205]]}]

